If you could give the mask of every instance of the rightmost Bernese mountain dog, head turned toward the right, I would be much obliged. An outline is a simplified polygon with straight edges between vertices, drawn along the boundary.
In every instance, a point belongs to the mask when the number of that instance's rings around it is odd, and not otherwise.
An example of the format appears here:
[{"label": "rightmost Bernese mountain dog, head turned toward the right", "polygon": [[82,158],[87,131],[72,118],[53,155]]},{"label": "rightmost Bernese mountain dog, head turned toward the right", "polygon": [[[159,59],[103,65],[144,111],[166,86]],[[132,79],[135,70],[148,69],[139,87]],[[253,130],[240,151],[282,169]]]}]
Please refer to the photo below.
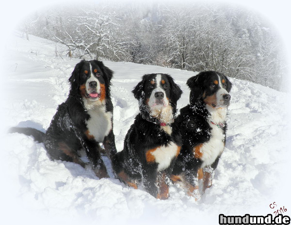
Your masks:
[{"label": "rightmost Bernese mountain dog, head turned toward the right", "polygon": [[[214,170],[226,143],[226,113],[231,82],[215,71],[201,72],[188,79],[190,105],[183,107],[175,120],[182,148],[173,168],[173,182],[182,181],[189,195],[200,198],[212,185]],[[201,182],[200,182],[201,183]]]}]

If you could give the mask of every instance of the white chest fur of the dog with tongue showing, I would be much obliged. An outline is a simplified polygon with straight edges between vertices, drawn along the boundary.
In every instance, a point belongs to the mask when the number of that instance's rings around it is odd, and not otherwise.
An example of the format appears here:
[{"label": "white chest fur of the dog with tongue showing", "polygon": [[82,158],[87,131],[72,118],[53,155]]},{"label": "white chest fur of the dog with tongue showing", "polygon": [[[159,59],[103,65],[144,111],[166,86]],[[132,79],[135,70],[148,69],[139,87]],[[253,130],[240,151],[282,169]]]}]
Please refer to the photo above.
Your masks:
[{"label": "white chest fur of the dog with tongue showing", "polygon": [[96,141],[103,142],[112,129],[112,112],[105,112],[105,106],[101,106],[88,110],[88,114],[90,119],[86,124],[90,135],[93,135]]}]

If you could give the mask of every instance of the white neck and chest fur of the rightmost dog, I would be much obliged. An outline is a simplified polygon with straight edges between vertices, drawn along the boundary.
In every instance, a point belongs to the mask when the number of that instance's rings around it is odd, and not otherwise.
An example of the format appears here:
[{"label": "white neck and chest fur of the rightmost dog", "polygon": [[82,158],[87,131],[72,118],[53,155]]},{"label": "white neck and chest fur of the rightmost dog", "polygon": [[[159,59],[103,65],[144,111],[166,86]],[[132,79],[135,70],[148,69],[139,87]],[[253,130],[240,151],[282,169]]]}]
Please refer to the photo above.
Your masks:
[{"label": "white neck and chest fur of the rightmost dog", "polygon": [[202,167],[211,165],[215,159],[223,152],[225,147],[225,135],[223,130],[211,123],[223,123],[226,120],[226,108],[223,110],[215,110],[210,112],[208,123],[211,129],[211,137],[208,142],[204,143],[200,151],[202,152],[201,160],[203,161]]}]

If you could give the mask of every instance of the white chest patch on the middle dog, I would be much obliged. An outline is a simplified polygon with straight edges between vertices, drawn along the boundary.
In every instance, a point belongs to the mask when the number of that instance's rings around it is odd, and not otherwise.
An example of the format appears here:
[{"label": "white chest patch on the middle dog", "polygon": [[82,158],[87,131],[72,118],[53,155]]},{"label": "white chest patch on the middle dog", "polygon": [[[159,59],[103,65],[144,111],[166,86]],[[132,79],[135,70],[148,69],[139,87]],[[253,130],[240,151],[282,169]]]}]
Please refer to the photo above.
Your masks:
[{"label": "white chest patch on the middle dog", "polygon": [[151,152],[155,157],[155,162],[158,163],[158,171],[168,168],[172,159],[178,154],[178,146],[174,142],[170,142],[167,147],[162,146]]}]

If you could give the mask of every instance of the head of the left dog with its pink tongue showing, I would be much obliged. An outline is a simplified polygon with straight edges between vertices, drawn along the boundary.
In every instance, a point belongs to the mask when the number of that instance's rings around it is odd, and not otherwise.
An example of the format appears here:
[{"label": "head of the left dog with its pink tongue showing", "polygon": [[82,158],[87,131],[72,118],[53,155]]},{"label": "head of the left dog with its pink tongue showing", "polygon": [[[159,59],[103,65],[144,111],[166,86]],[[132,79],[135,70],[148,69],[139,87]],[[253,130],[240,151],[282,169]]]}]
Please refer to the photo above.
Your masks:
[{"label": "head of the left dog with its pink tongue showing", "polygon": [[97,60],[82,60],[72,72],[69,82],[70,93],[81,95],[87,103],[104,105],[110,95],[110,81],[113,71]]}]

